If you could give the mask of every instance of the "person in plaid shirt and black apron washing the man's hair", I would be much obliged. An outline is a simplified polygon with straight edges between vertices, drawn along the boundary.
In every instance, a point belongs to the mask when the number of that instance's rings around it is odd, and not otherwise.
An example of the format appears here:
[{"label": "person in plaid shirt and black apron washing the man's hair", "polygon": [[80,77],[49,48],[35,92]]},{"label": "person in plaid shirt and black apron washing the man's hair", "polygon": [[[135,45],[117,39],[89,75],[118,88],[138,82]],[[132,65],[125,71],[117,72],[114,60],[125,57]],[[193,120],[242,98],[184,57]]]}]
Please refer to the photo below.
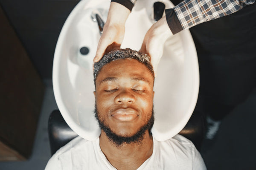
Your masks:
[{"label": "person in plaid shirt and black apron washing the man's hair", "polygon": [[[120,47],[125,22],[137,0],[111,0],[108,19],[94,62]],[[221,119],[256,87],[255,0],[172,0],[174,8],[154,23],[140,51],[156,71],[165,40],[190,28],[198,52],[200,89],[196,109],[207,116],[206,139],[212,140]],[[172,48],[172,47],[169,47]]]}]

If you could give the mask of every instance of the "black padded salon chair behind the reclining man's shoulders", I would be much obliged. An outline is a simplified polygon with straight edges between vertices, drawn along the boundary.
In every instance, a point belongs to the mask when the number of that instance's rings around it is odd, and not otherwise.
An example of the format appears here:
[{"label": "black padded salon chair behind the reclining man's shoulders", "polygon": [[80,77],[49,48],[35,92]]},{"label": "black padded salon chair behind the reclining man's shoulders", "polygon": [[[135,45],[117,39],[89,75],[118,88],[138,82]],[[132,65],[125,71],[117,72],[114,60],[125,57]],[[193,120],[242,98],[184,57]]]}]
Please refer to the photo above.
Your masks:
[{"label": "black padded salon chair behind the reclining man's shoulders", "polygon": [[[180,131],[180,135],[191,140],[195,147],[200,151],[204,139],[204,118],[194,112],[189,122]],[[52,155],[62,146],[78,136],[65,122],[59,110],[53,111],[49,116],[48,135]]]}]

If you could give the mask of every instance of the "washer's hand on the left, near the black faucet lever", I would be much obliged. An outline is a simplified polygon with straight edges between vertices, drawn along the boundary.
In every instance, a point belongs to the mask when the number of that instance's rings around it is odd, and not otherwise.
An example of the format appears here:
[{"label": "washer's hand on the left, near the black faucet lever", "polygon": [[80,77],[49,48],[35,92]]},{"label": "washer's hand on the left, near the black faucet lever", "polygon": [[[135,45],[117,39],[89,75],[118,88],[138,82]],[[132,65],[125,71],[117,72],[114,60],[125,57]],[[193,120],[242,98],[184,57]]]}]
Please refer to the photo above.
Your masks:
[{"label": "washer's hand on the left, near the black faucet lever", "polygon": [[98,62],[105,53],[120,48],[125,34],[125,22],[130,12],[125,6],[111,2],[93,62]]}]

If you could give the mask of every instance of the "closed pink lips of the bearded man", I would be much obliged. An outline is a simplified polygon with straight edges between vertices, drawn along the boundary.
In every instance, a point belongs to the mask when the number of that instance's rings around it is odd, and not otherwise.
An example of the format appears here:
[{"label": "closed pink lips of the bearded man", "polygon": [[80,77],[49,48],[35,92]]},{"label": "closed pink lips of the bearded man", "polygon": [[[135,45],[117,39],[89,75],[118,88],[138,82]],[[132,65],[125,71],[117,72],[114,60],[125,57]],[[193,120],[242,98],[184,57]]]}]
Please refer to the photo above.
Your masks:
[{"label": "closed pink lips of the bearded man", "polygon": [[122,122],[132,121],[137,118],[137,111],[133,108],[120,108],[114,111],[111,116]]}]

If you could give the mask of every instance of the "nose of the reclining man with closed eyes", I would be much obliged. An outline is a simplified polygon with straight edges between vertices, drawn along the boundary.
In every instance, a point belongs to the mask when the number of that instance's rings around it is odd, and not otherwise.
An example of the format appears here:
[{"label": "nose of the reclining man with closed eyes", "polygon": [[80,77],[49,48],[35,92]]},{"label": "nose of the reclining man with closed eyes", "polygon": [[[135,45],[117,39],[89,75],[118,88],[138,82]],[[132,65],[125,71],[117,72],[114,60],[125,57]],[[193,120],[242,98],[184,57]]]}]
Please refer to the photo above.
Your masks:
[{"label": "nose of the reclining man with closed eyes", "polygon": [[135,96],[132,94],[132,92],[129,92],[128,90],[120,91],[119,94],[114,99],[114,102],[116,104],[132,104],[136,100]]}]

